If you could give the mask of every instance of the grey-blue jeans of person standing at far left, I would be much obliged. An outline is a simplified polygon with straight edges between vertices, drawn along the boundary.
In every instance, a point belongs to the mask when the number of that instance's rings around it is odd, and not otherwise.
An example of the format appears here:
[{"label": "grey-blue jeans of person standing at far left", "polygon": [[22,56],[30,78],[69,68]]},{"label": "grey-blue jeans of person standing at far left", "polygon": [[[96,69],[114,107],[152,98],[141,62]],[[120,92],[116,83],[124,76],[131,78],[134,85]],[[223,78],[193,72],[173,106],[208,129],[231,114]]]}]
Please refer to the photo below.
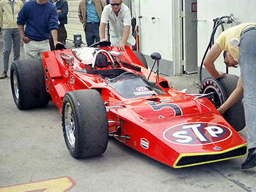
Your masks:
[{"label": "grey-blue jeans of person standing at far left", "polygon": [[12,50],[13,42],[13,60],[19,60],[20,58],[20,33],[18,28],[12,29],[3,29],[3,42],[4,42],[4,51],[3,51],[3,63],[4,63],[4,72],[8,71],[9,58]]}]

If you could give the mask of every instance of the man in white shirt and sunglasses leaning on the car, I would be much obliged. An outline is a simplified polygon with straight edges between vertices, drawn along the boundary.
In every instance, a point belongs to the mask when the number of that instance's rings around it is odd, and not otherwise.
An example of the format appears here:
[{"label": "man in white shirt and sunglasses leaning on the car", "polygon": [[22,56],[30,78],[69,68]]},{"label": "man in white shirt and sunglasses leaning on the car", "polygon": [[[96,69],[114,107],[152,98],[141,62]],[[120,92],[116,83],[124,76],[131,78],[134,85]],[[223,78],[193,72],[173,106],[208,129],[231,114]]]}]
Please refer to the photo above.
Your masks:
[{"label": "man in white shirt and sunglasses leaning on the car", "polygon": [[132,48],[135,44],[131,28],[131,11],[122,0],[110,0],[109,3],[105,6],[100,20],[100,41],[106,41],[105,27],[109,21],[111,45],[125,51],[125,45]]}]

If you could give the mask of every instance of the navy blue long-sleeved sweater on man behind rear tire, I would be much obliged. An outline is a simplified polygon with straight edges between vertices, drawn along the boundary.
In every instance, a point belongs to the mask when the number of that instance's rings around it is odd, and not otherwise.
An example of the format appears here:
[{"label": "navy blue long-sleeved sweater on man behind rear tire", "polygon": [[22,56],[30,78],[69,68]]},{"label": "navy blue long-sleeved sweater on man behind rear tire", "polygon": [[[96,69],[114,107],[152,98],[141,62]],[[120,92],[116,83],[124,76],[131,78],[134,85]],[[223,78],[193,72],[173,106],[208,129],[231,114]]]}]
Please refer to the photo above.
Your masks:
[{"label": "navy blue long-sleeved sweater on man behind rear tire", "polygon": [[24,35],[35,41],[49,39],[53,29],[58,30],[58,12],[54,4],[38,4],[35,0],[22,6],[18,17],[18,26],[26,25]]}]

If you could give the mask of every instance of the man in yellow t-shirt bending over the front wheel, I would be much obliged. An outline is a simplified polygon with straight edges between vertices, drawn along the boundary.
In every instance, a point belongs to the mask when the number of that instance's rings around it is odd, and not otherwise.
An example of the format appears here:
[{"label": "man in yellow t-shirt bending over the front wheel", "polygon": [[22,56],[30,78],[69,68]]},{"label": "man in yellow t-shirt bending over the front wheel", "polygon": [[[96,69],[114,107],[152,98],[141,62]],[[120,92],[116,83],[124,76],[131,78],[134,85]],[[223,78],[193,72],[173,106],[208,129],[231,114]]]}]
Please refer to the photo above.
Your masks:
[{"label": "man in yellow t-shirt bending over the front wheel", "polygon": [[246,120],[248,157],[242,169],[256,166],[256,23],[244,23],[229,28],[218,36],[205,56],[204,66],[215,79],[225,75],[218,72],[214,61],[225,50],[225,63],[228,67],[240,65],[241,77],[236,90],[219,109],[224,113],[244,93],[243,106]]}]

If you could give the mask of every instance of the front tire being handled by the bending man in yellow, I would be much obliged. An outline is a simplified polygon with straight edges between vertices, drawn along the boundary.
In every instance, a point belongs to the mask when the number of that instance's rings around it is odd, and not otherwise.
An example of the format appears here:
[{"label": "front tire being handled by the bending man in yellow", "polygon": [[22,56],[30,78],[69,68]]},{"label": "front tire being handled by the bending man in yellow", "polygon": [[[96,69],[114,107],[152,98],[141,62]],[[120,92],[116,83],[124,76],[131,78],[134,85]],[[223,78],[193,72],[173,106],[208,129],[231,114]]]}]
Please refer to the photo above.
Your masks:
[{"label": "front tire being handled by the bending man in yellow", "polygon": [[[221,79],[214,79],[207,77],[200,86],[199,93],[217,93],[217,99],[214,99],[214,106],[219,108],[229,97],[229,95],[236,89],[237,76],[226,74]],[[225,111],[223,118],[227,120],[236,131],[241,131],[245,127],[244,108],[242,104],[243,95],[237,102]],[[217,102],[216,102],[217,100]]]}]

